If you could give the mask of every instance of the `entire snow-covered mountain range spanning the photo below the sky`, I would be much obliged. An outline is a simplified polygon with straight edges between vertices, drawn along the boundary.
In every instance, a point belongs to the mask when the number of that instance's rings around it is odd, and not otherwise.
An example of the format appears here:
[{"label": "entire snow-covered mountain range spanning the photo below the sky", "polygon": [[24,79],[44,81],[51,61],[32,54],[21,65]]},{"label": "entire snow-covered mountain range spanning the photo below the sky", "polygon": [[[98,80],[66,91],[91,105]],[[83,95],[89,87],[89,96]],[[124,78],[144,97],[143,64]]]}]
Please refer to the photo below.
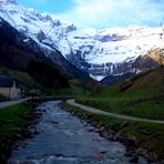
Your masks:
[{"label": "entire snow-covered mountain range spanning the photo below the sky", "polygon": [[[142,71],[134,62],[147,51],[163,48],[162,29],[131,25],[127,28],[78,29],[49,14],[27,9],[16,0],[0,1],[0,17],[27,33],[47,50],[58,49],[70,62],[92,76]],[[139,59],[137,59],[139,60]]]}]

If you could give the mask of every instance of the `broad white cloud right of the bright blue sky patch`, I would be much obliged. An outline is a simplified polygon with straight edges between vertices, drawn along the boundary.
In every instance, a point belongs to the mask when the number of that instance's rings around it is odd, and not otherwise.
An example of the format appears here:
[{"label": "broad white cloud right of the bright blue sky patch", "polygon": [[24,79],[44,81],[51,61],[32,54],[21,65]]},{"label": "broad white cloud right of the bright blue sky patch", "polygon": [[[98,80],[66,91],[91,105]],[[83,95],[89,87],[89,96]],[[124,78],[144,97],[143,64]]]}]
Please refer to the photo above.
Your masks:
[{"label": "broad white cloud right of the bright blue sky patch", "polygon": [[164,17],[163,0],[73,0],[72,11],[55,14],[81,28],[160,24]]}]

